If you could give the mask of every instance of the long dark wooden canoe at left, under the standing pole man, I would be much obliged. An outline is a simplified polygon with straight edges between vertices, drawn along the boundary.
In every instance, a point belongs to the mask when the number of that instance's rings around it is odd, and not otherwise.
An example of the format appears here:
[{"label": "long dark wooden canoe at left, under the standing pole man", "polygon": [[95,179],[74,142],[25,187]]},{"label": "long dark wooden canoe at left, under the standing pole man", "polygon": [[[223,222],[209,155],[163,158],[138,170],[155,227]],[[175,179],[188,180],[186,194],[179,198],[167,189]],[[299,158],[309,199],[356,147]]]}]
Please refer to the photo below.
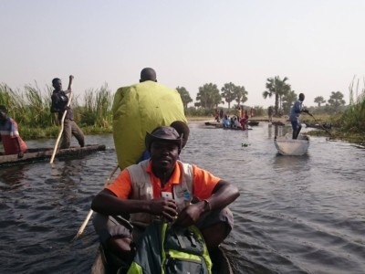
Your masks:
[{"label": "long dark wooden canoe at left, under the standing pole man", "polygon": [[[24,153],[23,158],[18,158],[17,154],[0,155],[0,167],[14,164],[34,163],[50,159],[53,154],[53,149],[54,148],[28,149],[28,152]],[[105,151],[104,144],[89,144],[84,147],[75,146],[75,147],[70,147],[68,149],[62,149],[62,150],[58,149],[55,158],[57,159],[78,158],[82,155],[95,153],[99,151]]]}]

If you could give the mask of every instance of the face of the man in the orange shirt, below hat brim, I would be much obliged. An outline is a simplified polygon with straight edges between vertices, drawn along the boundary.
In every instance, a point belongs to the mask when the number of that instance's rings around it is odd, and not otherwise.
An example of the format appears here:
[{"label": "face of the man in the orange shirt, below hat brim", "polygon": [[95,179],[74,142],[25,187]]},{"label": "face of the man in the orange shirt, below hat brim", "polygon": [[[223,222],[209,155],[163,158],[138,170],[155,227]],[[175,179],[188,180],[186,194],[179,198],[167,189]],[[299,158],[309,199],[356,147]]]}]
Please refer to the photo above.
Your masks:
[{"label": "face of the man in the orange shirt, below hat brim", "polygon": [[154,141],[151,144],[152,167],[172,170],[179,157],[179,146],[172,142]]}]

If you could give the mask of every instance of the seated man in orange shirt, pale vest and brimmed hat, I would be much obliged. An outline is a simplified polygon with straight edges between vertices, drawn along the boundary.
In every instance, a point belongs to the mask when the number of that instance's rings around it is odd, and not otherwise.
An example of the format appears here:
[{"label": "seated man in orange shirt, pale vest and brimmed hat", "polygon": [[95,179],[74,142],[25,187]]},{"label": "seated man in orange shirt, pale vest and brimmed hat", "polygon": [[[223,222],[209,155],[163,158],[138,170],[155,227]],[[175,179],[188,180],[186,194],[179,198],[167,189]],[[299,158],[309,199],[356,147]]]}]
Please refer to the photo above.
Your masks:
[{"label": "seated man in orange shirt, pale vest and brimmed hat", "polygon": [[121,171],[92,200],[91,208],[97,212],[93,224],[104,249],[131,260],[141,232],[158,218],[177,227],[195,225],[207,248],[218,248],[233,227],[227,205],[239,196],[237,187],[178,161],[183,136],[172,127],[147,132],[145,145],[151,159]]}]

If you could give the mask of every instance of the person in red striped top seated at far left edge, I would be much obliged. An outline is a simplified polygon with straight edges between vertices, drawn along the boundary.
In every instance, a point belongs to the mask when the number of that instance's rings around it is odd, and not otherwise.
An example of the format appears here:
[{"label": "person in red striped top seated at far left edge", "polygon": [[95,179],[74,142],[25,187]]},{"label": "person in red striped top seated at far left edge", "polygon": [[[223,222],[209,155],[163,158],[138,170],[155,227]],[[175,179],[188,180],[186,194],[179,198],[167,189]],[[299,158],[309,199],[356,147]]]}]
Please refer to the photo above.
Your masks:
[{"label": "person in red striped top seated at far left edge", "polygon": [[17,154],[18,158],[23,158],[27,150],[26,142],[17,131],[16,121],[7,117],[7,109],[4,105],[0,105],[0,140],[3,142],[5,155]]}]

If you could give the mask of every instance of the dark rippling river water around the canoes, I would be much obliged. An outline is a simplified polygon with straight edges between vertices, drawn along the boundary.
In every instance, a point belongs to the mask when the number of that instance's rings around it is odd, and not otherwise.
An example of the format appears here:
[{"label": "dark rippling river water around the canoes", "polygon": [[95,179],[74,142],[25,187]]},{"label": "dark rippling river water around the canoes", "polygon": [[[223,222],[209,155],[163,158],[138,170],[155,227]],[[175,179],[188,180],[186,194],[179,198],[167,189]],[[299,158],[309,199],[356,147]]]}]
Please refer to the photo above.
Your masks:
[{"label": "dark rippling river water around the canoes", "polygon": [[[230,206],[235,227],[224,244],[235,273],[365,273],[363,148],[312,137],[307,155],[280,156],[273,138],[290,127],[190,127],[183,161],[241,193]],[[0,273],[90,272],[99,244],[91,222],[72,238],[117,162],[110,134],[87,137],[107,151],[0,168]]]}]

